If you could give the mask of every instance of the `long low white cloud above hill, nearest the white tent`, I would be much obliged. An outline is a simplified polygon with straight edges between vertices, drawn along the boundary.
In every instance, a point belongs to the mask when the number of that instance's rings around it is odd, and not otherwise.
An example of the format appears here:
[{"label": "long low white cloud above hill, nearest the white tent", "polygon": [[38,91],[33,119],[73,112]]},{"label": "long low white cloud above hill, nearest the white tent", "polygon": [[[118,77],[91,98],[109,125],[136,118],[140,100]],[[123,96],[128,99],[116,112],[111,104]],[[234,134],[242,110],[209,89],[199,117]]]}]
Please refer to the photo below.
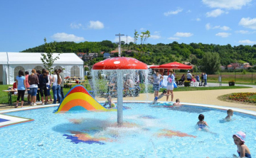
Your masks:
[{"label": "long low white cloud above hill, nearest the white tent", "polygon": [[80,42],[85,40],[85,38],[78,37],[68,33],[55,33],[54,35],[51,36],[51,38],[53,38],[53,40],[60,41],[60,42],[62,41]]}]

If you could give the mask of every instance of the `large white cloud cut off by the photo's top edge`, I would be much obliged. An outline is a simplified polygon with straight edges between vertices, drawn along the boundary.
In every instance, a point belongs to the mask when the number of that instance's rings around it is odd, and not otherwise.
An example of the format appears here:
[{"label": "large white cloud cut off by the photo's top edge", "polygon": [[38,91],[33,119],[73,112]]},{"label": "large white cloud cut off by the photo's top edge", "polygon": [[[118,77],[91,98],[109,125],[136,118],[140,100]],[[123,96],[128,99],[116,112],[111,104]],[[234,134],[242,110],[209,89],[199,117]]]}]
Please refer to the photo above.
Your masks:
[{"label": "large white cloud cut off by the photo's top edge", "polygon": [[202,0],[203,4],[210,8],[219,9],[241,9],[242,6],[246,6],[252,0]]}]

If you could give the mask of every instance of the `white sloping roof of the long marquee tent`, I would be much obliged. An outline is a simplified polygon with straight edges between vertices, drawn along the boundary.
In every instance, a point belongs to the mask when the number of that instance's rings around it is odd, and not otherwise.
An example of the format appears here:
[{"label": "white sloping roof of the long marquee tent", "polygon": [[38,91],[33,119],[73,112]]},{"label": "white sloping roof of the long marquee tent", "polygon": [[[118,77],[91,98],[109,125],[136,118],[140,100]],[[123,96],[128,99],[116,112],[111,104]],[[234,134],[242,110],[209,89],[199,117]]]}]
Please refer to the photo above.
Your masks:
[{"label": "white sloping roof of the long marquee tent", "polygon": [[[8,56],[7,56],[7,55]],[[46,54],[46,53],[45,53]],[[0,52],[0,64],[43,64],[40,58],[41,52]],[[53,53],[53,58],[58,53]],[[60,59],[55,60],[54,64],[83,64],[83,61],[75,53],[63,53]]]}]

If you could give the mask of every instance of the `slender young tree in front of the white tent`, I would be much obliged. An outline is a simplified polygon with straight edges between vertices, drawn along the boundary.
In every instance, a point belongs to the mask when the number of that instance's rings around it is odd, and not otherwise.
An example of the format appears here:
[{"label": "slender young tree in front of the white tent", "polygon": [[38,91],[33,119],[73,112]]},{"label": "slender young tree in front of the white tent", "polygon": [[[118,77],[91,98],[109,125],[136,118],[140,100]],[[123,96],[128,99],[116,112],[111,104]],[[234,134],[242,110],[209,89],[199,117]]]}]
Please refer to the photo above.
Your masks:
[{"label": "slender young tree in front of the white tent", "polygon": [[[47,43],[46,42],[46,38],[43,39],[44,43],[45,43],[45,52],[46,54],[41,53],[42,57],[40,58],[41,61],[43,62],[43,66],[48,69],[48,71],[50,73],[53,72],[53,63],[55,62],[55,60],[60,59],[60,57],[53,57],[53,53],[55,53],[55,47],[56,47],[56,42],[54,41],[53,43]],[[60,52],[61,53],[61,52]],[[58,53],[58,55],[60,55],[60,53]]]}]

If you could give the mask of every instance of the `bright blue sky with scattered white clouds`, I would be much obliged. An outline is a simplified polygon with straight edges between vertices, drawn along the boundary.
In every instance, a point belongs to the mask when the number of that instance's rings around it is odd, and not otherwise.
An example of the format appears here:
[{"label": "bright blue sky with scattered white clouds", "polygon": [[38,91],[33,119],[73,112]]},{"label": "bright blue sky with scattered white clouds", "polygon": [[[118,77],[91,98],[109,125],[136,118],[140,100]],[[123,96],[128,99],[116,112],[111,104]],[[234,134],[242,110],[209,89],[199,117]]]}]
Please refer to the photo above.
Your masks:
[{"label": "bright blue sky with scattered white clouds", "polygon": [[43,38],[117,42],[122,33],[129,43],[134,30],[149,30],[151,44],[256,45],[256,0],[9,0],[0,14],[0,52],[43,45]]}]

